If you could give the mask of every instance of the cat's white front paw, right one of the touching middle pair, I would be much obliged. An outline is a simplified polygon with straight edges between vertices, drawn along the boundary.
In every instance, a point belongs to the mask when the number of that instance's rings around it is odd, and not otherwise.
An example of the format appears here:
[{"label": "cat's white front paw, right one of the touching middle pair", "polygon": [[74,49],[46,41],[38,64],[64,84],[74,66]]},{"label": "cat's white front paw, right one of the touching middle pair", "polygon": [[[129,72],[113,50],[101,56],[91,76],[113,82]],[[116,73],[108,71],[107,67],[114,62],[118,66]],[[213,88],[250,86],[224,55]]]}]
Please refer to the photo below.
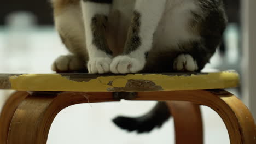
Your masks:
[{"label": "cat's white front paw, right one of the touching middle pair", "polygon": [[145,63],[145,60],[118,56],[110,64],[110,71],[115,74],[137,73],[144,68]]}]

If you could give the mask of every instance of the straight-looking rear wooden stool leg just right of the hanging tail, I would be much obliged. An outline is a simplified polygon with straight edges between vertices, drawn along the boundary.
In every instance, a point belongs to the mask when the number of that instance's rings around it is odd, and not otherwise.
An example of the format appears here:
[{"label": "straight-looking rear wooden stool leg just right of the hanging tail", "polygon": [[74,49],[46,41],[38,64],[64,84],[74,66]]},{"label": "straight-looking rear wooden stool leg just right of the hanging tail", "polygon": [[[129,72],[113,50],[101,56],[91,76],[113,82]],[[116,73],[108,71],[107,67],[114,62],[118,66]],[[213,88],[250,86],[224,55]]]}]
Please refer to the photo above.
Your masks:
[{"label": "straight-looking rear wooden stool leg just right of the hanging tail", "polygon": [[174,118],[176,144],[203,143],[203,127],[200,107],[185,101],[168,101]]}]

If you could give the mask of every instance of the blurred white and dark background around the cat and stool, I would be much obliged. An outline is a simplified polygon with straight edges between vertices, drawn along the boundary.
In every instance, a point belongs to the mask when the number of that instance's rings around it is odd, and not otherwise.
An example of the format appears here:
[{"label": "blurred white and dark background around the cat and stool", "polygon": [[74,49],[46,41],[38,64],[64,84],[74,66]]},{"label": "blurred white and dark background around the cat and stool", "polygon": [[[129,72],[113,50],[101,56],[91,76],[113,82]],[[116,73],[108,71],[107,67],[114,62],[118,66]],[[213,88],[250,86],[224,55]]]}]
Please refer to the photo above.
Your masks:
[{"label": "blurred white and dark background around the cat and stool", "polygon": [[[254,112],[253,44],[249,9],[255,1],[224,0],[229,25],[223,44],[204,71],[233,69],[241,74],[241,87],[229,89],[245,101]],[[0,9],[0,73],[53,73],[51,63],[67,50],[61,44],[53,26],[48,1],[3,1]],[[241,10],[242,9],[242,10]],[[243,13],[241,13],[243,11]],[[241,17],[242,15],[242,17]],[[254,29],[255,30],[255,29]],[[243,37],[242,37],[243,36]],[[253,61],[253,60],[252,60]],[[242,70],[241,70],[242,69]],[[11,91],[0,91],[0,110]],[[66,143],[174,143],[173,119],[152,133],[137,135],[115,127],[111,122],[117,115],[139,116],[155,104],[150,102],[79,104],[66,108],[55,118],[48,144]],[[202,106],[206,143],[229,143],[228,132],[216,112]],[[196,133],[196,131],[195,131]]]}]

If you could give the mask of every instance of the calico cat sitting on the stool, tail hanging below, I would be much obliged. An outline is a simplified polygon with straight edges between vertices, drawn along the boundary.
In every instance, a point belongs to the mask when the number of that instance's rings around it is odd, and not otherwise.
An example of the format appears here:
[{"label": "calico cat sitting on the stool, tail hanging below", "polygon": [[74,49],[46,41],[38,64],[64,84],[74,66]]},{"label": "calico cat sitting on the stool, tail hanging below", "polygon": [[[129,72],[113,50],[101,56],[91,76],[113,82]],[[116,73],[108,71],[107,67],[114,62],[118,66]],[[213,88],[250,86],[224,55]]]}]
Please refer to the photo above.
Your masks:
[{"label": "calico cat sitting on the stool, tail hanging below", "polygon": [[[200,71],[226,27],[222,0],[51,0],[55,27],[71,52],[57,72],[90,74]],[[153,121],[156,113],[162,116]],[[150,131],[170,117],[159,102],[139,118],[118,117],[121,128]],[[133,125],[133,127],[132,127]]]}]

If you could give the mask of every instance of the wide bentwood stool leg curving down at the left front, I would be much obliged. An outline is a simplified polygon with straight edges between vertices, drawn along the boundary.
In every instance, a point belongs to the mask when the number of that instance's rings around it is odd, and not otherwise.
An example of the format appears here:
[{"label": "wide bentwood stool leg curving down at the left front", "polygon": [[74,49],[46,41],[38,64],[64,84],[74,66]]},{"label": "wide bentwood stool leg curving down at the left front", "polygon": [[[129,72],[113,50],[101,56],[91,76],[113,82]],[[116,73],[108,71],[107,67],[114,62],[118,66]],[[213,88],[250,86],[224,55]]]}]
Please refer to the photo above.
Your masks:
[{"label": "wide bentwood stool leg curving down at the left front", "polygon": [[10,123],[8,144],[46,144],[57,113],[79,103],[114,101],[112,93],[33,93],[18,106]]}]

